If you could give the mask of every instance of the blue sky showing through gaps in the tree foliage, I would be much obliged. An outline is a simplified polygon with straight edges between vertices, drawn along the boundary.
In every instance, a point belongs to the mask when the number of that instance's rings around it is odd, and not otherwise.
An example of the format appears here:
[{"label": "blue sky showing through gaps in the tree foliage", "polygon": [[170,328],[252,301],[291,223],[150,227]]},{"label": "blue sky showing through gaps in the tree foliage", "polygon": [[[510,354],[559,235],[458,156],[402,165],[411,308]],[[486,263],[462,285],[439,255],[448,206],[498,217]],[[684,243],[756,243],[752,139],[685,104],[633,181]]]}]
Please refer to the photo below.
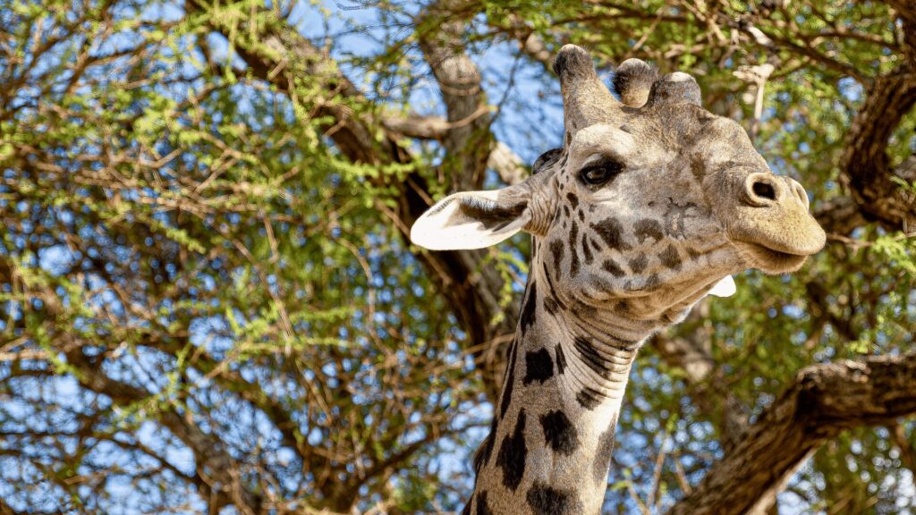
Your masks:
[{"label": "blue sky showing through gaps in the tree foliage", "polygon": [[[332,16],[324,18],[319,12],[320,9],[328,9]],[[158,11],[157,11],[158,9]],[[180,16],[180,10],[174,6],[153,7],[147,10],[146,16]],[[378,11],[371,8],[365,9],[341,9],[337,3],[325,2],[320,5],[310,5],[300,3],[296,6],[293,15],[293,21],[297,24],[300,31],[308,38],[315,41],[322,41],[326,36],[333,36],[335,45],[332,49],[333,57],[344,63],[344,71],[356,83],[365,83],[366,77],[359,73],[359,68],[349,66],[346,63],[357,57],[366,57],[374,55],[381,49],[379,39],[389,32],[387,27],[380,27],[381,21],[378,19]],[[318,21],[321,20],[321,21]],[[366,31],[356,31],[353,34],[342,35],[354,25],[364,25],[368,27]],[[223,39],[213,38],[217,50],[226,49]],[[416,50],[413,50],[416,53]],[[526,162],[530,163],[540,155],[540,152],[549,148],[561,145],[562,135],[562,107],[559,96],[559,86],[552,78],[551,74],[544,71],[540,64],[529,64],[518,61],[514,58],[515,49],[513,44],[503,42],[493,45],[482,51],[480,54],[474,54],[474,60],[478,63],[481,72],[484,75],[483,86],[491,103],[499,99],[506,99],[504,109],[496,118],[494,130],[500,141],[507,143],[513,148],[518,155]],[[415,58],[419,57],[414,55]],[[419,61],[419,60],[415,60]],[[507,71],[515,70],[516,75],[511,86],[507,85]],[[415,69],[418,76],[426,76],[425,80],[420,81],[417,87],[413,88],[409,104],[420,106],[427,111],[421,114],[444,115],[442,113],[442,102],[439,101],[438,88],[431,81],[428,71],[423,64],[419,64]],[[609,76],[603,77],[605,82]],[[859,94],[855,88],[850,88],[849,95],[855,98]],[[372,94],[372,92],[366,92]],[[513,102],[516,98],[525,99],[525,105],[533,105],[533,112],[529,108],[519,108],[520,104]],[[540,98],[538,103],[529,102],[532,98]],[[538,116],[535,116],[538,115]],[[491,183],[493,183],[491,178]],[[47,251],[40,257],[42,266],[53,270],[66,266],[69,257],[66,251],[60,250]],[[727,301],[727,300],[725,300]],[[514,309],[514,308],[513,308]],[[793,316],[796,313],[786,312],[787,316]],[[196,345],[213,345],[213,327],[207,323],[200,323],[195,326],[196,333],[193,334],[192,340]],[[228,345],[222,342],[223,345]],[[138,357],[133,366],[142,370],[142,356]],[[647,371],[646,377],[652,380],[652,371]],[[152,390],[158,390],[163,387],[162,383],[151,383]],[[62,400],[76,399],[75,381],[60,380],[57,384],[57,395]],[[78,403],[80,400],[71,400]],[[26,409],[26,407],[22,407]],[[456,417],[457,424],[463,424],[467,418],[486,419],[490,416],[490,408],[487,405],[480,405],[476,412],[463,413]],[[249,421],[250,422],[250,421]],[[273,428],[265,421],[252,422],[258,429],[265,434],[273,432]],[[474,434],[474,439],[481,439],[483,431]],[[137,439],[153,448],[163,448],[166,459],[180,469],[190,469],[193,465],[191,454],[174,444],[163,441],[151,427],[151,424],[145,423],[136,431]],[[628,440],[628,438],[633,438]],[[628,445],[638,444],[640,446],[651,445],[651,442],[644,442],[636,439],[627,433],[622,433],[618,440],[617,454],[621,461],[627,462],[628,456],[626,449]],[[665,444],[665,443],[663,443]],[[442,477],[452,477],[453,473],[463,471],[467,468],[466,458],[467,449],[457,448],[453,452],[447,453],[440,457]],[[629,460],[632,462],[632,460]],[[619,478],[619,477],[616,477]],[[612,477],[612,482],[616,480]],[[3,485],[0,485],[0,492],[3,492]],[[112,487],[116,493],[129,497],[130,487],[118,482],[114,482]],[[785,493],[780,499],[784,500],[784,507],[788,511],[803,513],[805,506],[803,503],[794,502],[794,496]],[[795,511],[792,511],[795,510]],[[130,513],[130,510],[125,510]]]}]

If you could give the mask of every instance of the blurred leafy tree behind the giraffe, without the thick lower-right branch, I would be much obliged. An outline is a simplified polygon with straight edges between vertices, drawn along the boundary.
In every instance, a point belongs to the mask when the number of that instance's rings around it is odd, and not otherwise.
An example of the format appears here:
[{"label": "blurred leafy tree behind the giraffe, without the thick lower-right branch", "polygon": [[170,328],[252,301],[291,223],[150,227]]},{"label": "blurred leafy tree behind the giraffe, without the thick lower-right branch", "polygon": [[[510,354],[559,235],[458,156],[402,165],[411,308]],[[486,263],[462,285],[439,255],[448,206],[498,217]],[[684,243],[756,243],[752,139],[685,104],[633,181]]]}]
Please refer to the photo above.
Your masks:
[{"label": "blurred leafy tree behind the giraffe, without the thick lower-right branch", "polygon": [[[906,359],[908,0],[2,0],[0,513],[460,510],[529,242],[405,235],[562,143],[567,42],[692,73],[830,240],[646,345],[606,512],[684,512],[802,368]],[[758,512],[916,511],[914,419],[812,420]]]}]

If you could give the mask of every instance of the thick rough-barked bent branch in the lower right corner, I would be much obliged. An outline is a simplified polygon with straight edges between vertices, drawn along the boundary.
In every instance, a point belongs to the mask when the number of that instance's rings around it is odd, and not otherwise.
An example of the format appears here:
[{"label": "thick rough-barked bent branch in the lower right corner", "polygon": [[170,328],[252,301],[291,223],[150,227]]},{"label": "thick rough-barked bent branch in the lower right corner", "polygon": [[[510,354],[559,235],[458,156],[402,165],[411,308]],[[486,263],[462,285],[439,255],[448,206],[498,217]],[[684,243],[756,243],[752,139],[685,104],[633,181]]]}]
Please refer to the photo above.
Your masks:
[{"label": "thick rough-barked bent branch in the lower right corner", "polygon": [[916,354],[806,367],[669,515],[745,513],[826,440],[912,413]]}]

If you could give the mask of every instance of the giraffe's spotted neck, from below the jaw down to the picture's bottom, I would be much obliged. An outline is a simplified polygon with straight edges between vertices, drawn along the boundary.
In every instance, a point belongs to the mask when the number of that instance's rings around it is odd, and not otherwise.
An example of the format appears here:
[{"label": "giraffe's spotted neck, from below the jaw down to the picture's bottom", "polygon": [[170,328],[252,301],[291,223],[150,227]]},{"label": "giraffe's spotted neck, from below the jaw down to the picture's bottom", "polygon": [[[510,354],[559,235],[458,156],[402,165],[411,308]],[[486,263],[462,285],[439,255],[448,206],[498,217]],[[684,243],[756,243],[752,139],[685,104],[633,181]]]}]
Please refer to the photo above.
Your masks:
[{"label": "giraffe's spotted neck, from below the jaw down to the picture's bottom", "polygon": [[532,270],[465,513],[598,513],[630,367],[661,325],[566,305]]}]

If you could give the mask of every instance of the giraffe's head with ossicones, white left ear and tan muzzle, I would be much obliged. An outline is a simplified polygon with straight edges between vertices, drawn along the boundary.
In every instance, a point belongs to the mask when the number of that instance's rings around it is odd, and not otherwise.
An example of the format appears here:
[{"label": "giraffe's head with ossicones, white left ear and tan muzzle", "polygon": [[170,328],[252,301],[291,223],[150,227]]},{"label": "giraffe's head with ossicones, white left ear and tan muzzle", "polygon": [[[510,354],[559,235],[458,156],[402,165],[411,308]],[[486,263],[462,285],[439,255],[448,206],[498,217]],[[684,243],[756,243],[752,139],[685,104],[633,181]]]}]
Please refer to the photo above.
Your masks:
[{"label": "giraffe's head with ossicones, white left ear and tan muzzle", "polygon": [[[579,47],[560,50],[563,148],[528,180],[459,192],[411,230],[431,249],[486,247],[526,230],[556,301],[675,318],[747,268],[778,274],[823,247],[802,186],[772,173],[735,121],[706,111],[692,76],[620,65],[622,103]],[[673,321],[673,320],[671,320]]]}]

